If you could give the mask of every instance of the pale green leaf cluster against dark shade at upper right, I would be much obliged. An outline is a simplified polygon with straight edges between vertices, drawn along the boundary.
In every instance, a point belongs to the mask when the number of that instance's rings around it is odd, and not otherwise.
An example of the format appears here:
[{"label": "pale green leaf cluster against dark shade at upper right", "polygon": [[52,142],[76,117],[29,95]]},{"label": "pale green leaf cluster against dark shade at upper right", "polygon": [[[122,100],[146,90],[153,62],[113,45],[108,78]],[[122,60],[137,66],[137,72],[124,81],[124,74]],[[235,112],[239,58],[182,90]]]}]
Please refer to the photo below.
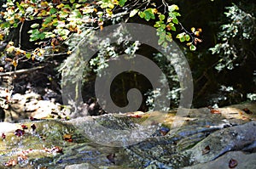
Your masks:
[{"label": "pale green leaf cluster against dark shade at upper right", "polygon": [[228,24],[220,26],[218,43],[210,48],[212,54],[218,54],[217,70],[234,69],[236,63],[241,63],[253,53],[253,43],[256,38],[255,17],[253,14],[239,8],[236,4],[226,8],[225,16]]}]

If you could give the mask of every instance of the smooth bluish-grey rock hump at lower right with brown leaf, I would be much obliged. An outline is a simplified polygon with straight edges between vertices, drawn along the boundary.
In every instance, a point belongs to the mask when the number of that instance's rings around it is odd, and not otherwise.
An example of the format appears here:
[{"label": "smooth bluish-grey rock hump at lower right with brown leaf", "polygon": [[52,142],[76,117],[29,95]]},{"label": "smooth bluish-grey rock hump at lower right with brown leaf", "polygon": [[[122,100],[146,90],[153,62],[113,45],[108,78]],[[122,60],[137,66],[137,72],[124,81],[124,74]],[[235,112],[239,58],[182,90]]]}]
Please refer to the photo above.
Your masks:
[{"label": "smooth bluish-grey rock hump at lower right with brown leaf", "polygon": [[[224,128],[212,132],[207,138],[196,144],[192,149],[186,151],[191,154],[191,160],[195,163],[213,161],[229,151],[242,150],[251,146],[256,141],[256,122],[251,121],[241,126]],[[208,154],[202,150],[209,146]]]}]

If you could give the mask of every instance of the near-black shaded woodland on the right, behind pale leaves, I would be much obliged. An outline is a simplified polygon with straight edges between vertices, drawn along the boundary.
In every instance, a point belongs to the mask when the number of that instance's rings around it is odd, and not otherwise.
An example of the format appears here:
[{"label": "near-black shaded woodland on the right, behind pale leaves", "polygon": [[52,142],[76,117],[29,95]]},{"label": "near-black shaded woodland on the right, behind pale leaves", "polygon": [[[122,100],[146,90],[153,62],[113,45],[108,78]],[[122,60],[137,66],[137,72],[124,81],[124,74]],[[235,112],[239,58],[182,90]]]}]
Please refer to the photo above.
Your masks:
[{"label": "near-black shaded woodland on the right, behind pale leaves", "polygon": [[[203,29],[203,42],[198,50],[187,53],[189,65],[195,81],[194,105],[205,106],[217,103],[219,106],[237,104],[247,100],[247,93],[255,93],[255,3],[252,1],[178,1],[182,6],[184,26],[195,25]],[[250,14],[254,21],[248,21],[241,16],[232,13],[236,20],[230,20],[224,13],[228,13],[233,5],[237,5],[242,11]],[[212,54],[209,48],[218,43],[224,43],[218,39],[221,26],[240,20],[239,33],[229,39],[233,50],[238,50],[237,59],[232,60],[234,67],[224,66],[223,69],[215,69],[220,59],[227,58],[228,54]],[[249,23],[248,23],[249,22]],[[243,38],[245,29],[253,29],[251,38]],[[224,33],[227,33],[227,31]],[[234,33],[235,34],[235,33]]]}]

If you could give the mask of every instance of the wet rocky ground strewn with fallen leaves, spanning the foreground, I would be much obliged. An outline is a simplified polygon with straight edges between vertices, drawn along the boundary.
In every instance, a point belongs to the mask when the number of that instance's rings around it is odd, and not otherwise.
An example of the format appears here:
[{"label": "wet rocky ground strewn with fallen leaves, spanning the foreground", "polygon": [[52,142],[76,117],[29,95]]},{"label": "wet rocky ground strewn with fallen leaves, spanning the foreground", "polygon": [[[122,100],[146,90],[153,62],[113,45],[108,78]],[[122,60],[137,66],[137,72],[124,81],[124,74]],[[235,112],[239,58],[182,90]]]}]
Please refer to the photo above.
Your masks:
[{"label": "wet rocky ground strewn with fallen leaves, spanning the foreground", "polygon": [[[176,110],[69,119],[60,104],[35,94],[19,97],[0,122],[0,168],[256,167],[255,103],[191,109],[173,128]],[[117,132],[95,130],[94,124]],[[120,141],[116,134],[126,131],[139,141]]]}]

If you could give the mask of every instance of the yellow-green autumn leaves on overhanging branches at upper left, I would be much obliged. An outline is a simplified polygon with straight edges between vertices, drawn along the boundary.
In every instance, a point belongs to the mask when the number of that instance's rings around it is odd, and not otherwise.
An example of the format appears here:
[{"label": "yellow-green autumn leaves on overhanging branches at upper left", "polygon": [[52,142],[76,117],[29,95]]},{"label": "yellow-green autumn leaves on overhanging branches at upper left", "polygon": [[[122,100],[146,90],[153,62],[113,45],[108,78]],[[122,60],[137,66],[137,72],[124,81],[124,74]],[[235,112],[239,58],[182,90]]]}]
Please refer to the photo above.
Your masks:
[{"label": "yellow-green autumn leaves on overhanging branches at upper left", "polygon": [[[7,0],[1,12],[0,29],[4,33],[0,31],[0,41],[8,39],[11,29],[19,29],[21,32],[26,21],[35,20],[36,23],[28,31],[29,41],[38,44],[39,48],[32,52],[23,51],[19,42],[7,46],[2,56],[15,58],[18,63],[20,59],[40,61],[51,54],[72,54],[81,37],[90,30],[104,29],[109,21],[112,24],[127,21],[136,15],[146,21],[154,20],[159,44],[166,48],[167,42],[172,42],[172,31],[177,31],[177,26],[181,25],[178,21],[181,14],[177,12],[179,8],[176,4],[169,5],[163,1],[161,6],[164,12],[160,12],[160,6],[154,2],[144,0]],[[195,50],[195,44],[199,41],[193,37],[194,33],[188,33],[183,27],[181,31],[177,38],[180,42],[187,42],[190,50]],[[63,44],[68,46],[67,50],[60,49]]]}]

